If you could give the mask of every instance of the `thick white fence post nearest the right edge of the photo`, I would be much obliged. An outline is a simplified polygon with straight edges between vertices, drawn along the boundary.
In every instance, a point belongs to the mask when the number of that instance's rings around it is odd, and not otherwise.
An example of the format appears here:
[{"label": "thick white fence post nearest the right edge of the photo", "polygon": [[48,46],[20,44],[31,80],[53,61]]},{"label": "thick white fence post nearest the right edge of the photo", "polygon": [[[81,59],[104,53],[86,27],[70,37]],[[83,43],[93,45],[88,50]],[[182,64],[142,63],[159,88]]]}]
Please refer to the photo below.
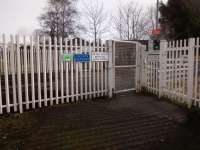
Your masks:
[{"label": "thick white fence post nearest the right edge of the photo", "polygon": [[187,103],[189,107],[192,105],[193,99],[193,86],[194,86],[194,48],[195,39],[189,39],[189,50],[188,50],[188,80],[187,80]]}]

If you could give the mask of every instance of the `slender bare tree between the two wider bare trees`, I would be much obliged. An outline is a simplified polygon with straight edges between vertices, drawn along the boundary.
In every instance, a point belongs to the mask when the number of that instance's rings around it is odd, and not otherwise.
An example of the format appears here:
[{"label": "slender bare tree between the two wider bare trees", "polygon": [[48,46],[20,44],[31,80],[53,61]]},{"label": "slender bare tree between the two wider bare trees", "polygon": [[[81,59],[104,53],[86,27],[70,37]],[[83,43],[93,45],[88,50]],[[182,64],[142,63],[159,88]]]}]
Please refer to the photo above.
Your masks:
[{"label": "slender bare tree between the two wider bare trees", "polygon": [[83,18],[86,31],[96,42],[108,31],[107,12],[104,9],[103,2],[99,0],[84,2],[84,10]]}]

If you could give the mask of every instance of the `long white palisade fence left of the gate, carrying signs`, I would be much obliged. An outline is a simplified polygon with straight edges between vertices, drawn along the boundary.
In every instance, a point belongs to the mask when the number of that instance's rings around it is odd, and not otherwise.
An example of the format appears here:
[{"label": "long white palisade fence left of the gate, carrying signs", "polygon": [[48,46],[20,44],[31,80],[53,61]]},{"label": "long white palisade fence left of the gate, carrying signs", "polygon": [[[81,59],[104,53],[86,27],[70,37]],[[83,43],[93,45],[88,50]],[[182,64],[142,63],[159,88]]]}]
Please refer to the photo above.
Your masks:
[{"label": "long white palisade fence left of the gate, carrying signs", "polygon": [[[0,114],[109,94],[112,62],[91,61],[92,54],[112,53],[100,40],[19,36],[8,40],[3,35],[0,43]],[[89,58],[78,61],[75,55]]]}]

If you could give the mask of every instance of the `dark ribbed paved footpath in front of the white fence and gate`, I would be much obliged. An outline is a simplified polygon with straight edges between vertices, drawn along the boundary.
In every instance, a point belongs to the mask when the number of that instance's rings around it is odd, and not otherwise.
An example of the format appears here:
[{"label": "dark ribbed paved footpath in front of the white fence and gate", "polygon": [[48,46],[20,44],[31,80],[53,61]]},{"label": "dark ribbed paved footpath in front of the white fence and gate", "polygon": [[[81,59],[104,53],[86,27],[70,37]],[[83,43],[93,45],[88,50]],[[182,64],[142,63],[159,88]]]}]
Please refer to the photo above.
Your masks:
[{"label": "dark ribbed paved footpath in front of the white fence and gate", "polygon": [[58,105],[1,117],[0,149],[151,150],[170,138],[185,116],[172,104],[130,93]]}]

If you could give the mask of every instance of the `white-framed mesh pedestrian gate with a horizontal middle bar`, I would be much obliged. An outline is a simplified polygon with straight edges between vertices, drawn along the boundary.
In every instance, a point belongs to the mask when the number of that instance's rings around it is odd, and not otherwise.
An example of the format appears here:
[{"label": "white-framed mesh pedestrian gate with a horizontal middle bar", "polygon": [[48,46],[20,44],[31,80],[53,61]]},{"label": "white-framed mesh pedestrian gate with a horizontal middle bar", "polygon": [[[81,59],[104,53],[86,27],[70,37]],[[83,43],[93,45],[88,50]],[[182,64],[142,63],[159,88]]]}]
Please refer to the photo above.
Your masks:
[{"label": "white-framed mesh pedestrian gate with a horizontal middle bar", "polygon": [[[114,92],[122,93],[136,90],[138,78],[139,55],[138,42],[114,41],[113,66],[114,66]],[[139,66],[138,66],[139,67]]]}]

